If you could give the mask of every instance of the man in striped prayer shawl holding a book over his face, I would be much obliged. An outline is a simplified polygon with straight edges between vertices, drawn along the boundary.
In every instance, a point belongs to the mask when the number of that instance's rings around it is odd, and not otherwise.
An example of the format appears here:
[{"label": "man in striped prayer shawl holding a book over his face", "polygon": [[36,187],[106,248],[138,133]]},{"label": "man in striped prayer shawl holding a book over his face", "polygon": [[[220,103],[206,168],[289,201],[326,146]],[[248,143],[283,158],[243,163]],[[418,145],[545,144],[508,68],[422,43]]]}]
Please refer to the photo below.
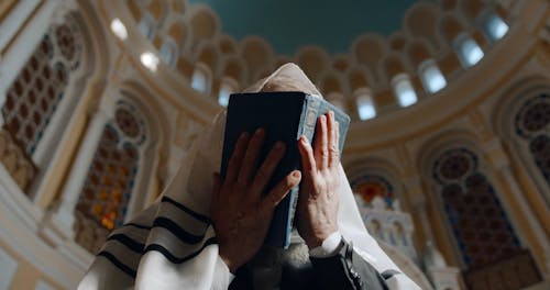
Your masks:
[{"label": "man in striped prayer shawl holding a book over his face", "polygon": [[[293,64],[249,91],[320,96]],[[312,147],[304,136],[297,141],[302,170],[266,196],[285,144],[257,160],[262,129],[241,135],[224,180],[208,178],[220,167],[224,121],[222,112],[194,144],[161,201],[111,234],[79,289],[418,289],[361,221],[331,112],[318,119]],[[263,248],[275,207],[300,181],[294,243]]]}]

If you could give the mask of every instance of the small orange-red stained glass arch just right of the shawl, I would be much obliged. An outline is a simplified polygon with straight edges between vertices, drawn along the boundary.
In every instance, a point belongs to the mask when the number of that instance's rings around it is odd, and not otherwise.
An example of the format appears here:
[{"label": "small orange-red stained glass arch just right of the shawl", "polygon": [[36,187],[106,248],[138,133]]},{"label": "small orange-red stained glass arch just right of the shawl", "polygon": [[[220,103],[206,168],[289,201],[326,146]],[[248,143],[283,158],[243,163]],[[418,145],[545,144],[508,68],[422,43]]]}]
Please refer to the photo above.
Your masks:
[{"label": "small orange-red stained glass arch just right of the shawl", "polygon": [[391,207],[394,202],[394,187],[389,181],[378,175],[365,175],[351,182],[351,188],[355,194],[361,196],[366,204],[371,203],[375,197],[381,197]]}]

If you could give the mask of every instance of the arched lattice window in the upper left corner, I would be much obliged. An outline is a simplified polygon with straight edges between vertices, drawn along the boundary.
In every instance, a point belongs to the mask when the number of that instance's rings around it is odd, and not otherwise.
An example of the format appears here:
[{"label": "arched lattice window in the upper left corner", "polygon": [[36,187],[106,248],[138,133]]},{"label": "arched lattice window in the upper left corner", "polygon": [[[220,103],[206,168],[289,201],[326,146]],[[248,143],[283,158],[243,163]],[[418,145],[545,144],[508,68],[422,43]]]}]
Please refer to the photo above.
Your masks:
[{"label": "arched lattice window in the upper left corner", "polygon": [[[42,147],[44,152],[47,147],[48,144],[41,141],[61,102],[67,99],[67,88],[76,80],[73,72],[82,62],[84,47],[77,30],[72,19],[50,27],[8,89],[6,102],[1,108],[3,130],[33,167],[45,165],[36,164],[36,150]],[[69,99],[69,102],[75,100]],[[36,170],[33,171],[28,181],[32,181],[36,174]],[[22,186],[21,182],[18,183]],[[22,189],[26,190],[29,183],[23,183]]]}]

